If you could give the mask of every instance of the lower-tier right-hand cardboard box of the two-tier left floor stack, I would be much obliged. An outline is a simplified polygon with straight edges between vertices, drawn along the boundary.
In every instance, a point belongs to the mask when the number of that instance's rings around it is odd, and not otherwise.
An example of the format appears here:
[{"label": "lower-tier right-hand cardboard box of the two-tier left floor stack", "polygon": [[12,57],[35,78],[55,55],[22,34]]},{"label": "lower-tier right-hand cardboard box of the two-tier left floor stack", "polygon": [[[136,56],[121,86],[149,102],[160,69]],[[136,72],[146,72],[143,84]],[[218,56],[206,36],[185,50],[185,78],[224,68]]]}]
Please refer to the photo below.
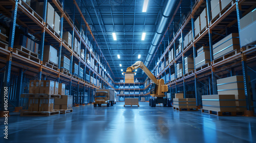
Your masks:
[{"label": "lower-tier right-hand cardboard box of the two-tier left floor stack", "polygon": [[54,98],[41,98],[39,99],[38,111],[52,112],[54,107]]}]

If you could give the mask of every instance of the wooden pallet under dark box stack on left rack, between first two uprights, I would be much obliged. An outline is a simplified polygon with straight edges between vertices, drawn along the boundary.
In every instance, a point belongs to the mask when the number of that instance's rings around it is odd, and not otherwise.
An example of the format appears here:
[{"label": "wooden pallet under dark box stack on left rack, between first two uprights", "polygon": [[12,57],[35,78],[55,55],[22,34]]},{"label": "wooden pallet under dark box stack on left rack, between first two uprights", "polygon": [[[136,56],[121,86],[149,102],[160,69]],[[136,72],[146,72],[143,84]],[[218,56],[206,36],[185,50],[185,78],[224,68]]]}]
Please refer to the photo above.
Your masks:
[{"label": "wooden pallet under dark box stack on left rack, between first two uprights", "polygon": [[[27,50],[25,47],[23,47],[22,50],[19,50],[19,49],[17,49],[16,47],[14,47],[12,53],[16,53],[16,54],[18,54],[18,55],[20,55],[20,56],[23,56],[23,57],[25,57],[25,58],[28,58],[28,59],[30,59],[30,60],[32,60],[32,61],[37,62],[37,63],[39,63],[39,61],[40,61],[40,60],[37,58],[37,57],[38,57],[37,54],[35,54],[35,53],[33,53],[33,52]],[[35,56],[36,56],[36,57],[35,57]]]}]

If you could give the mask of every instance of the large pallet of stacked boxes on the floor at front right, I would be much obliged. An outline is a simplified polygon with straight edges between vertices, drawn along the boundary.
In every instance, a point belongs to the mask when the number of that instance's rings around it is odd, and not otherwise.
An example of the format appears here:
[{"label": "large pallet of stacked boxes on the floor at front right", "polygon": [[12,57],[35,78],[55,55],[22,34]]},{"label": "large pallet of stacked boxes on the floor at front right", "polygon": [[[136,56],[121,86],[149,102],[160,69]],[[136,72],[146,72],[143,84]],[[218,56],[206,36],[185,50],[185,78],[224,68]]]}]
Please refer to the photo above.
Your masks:
[{"label": "large pallet of stacked boxes on the floor at front right", "polygon": [[217,88],[219,94],[202,96],[202,113],[218,116],[244,114],[246,97],[243,76],[218,79]]}]

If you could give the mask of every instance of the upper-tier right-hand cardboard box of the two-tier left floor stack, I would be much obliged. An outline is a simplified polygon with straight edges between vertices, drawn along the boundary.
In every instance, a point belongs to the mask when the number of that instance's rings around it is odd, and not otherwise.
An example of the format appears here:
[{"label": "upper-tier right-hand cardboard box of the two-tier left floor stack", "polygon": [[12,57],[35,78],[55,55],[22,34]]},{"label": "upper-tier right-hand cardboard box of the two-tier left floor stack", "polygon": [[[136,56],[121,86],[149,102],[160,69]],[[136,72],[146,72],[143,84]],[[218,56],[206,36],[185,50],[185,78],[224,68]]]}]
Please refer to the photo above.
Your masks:
[{"label": "upper-tier right-hand cardboard box of the two-tier left floor stack", "polygon": [[54,95],[54,81],[41,80],[39,93]]}]

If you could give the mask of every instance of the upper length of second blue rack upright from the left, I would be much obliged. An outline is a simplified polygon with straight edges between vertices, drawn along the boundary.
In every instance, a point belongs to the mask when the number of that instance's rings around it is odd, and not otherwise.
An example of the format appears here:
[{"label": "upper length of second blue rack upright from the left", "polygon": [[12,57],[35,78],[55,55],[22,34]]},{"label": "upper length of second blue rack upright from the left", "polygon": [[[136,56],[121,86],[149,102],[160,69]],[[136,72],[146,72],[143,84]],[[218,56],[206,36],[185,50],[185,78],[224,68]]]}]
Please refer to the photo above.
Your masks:
[{"label": "upper length of second blue rack upright from the left", "polygon": [[[46,13],[47,13],[47,0],[44,0],[44,12],[42,15],[42,19],[46,22]],[[42,30],[41,33],[41,42],[39,45],[39,49],[40,49],[40,55],[39,55],[39,59],[41,61],[41,66],[39,67],[39,71],[38,71],[38,80],[41,80],[41,76],[42,76],[42,60],[44,58],[44,46],[45,46],[45,27]]]}]

